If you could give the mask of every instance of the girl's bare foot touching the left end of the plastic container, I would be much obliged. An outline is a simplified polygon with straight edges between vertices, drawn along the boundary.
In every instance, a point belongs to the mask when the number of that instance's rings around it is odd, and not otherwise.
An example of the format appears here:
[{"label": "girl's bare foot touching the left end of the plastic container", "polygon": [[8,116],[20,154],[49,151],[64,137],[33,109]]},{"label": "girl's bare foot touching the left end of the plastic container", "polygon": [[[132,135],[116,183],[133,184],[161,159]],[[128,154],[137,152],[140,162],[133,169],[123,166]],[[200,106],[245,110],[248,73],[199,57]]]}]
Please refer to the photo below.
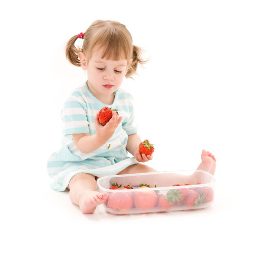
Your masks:
[{"label": "girl's bare foot touching the left end of the plastic container", "polygon": [[83,214],[92,214],[97,205],[105,203],[108,198],[107,193],[100,193],[94,191],[84,192],[79,200],[79,207]]}]

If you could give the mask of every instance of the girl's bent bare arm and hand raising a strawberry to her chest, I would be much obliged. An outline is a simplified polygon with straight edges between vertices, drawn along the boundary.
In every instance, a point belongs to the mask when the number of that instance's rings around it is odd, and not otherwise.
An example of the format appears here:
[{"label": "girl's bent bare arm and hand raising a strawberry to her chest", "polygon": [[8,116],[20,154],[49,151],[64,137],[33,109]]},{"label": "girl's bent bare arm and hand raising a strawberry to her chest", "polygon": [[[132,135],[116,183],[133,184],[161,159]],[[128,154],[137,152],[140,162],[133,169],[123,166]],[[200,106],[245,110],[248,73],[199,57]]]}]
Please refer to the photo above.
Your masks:
[{"label": "girl's bent bare arm and hand raising a strawberry to her chest", "polygon": [[115,111],[112,111],[112,118],[109,122],[102,126],[99,123],[98,114],[94,118],[96,134],[90,135],[89,133],[72,134],[74,143],[82,153],[90,153],[99,149],[104,145],[114,134],[117,126],[121,122],[122,117],[117,117]]}]

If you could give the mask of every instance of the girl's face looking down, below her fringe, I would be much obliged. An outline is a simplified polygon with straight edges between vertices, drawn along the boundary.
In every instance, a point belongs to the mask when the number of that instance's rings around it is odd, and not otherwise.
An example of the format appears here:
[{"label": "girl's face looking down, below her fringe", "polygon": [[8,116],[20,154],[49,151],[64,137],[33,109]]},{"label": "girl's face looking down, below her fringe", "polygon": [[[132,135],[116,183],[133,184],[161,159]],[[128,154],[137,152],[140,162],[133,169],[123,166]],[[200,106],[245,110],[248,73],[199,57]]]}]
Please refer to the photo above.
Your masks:
[{"label": "girl's face looking down, below her fringe", "polygon": [[[101,58],[103,49],[94,50],[88,62],[81,60],[81,66],[87,70],[88,88],[103,102],[113,98],[114,92],[121,86],[132,59],[106,60]],[[110,103],[108,103],[110,104]]]}]

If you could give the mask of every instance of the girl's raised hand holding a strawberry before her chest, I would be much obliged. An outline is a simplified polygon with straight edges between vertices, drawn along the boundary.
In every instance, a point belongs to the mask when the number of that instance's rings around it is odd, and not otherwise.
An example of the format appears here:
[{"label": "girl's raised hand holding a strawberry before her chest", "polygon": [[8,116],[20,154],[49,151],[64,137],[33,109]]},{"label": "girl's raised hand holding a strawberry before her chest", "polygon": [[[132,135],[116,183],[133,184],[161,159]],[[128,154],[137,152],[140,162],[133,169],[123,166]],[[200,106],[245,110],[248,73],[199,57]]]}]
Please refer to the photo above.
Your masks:
[{"label": "girl's raised hand holding a strawberry before her chest", "polygon": [[115,111],[112,111],[112,118],[108,121],[106,125],[102,126],[99,123],[98,114],[96,114],[94,118],[96,136],[100,140],[104,140],[104,143],[106,143],[114,134],[115,130],[117,129],[117,126],[119,125],[119,123],[121,123],[121,120],[122,117],[118,117],[117,113]]}]

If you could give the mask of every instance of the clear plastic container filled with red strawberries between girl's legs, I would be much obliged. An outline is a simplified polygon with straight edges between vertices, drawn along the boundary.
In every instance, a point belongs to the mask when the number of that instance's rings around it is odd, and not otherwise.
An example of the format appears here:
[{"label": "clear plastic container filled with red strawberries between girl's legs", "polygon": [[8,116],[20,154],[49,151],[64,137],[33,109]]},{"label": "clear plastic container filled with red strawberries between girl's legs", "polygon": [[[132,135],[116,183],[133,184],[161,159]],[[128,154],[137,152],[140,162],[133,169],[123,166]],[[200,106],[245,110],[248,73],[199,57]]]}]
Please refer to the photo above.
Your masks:
[{"label": "clear plastic container filled with red strawberries between girl's legs", "polygon": [[[103,176],[100,192],[109,194],[103,204],[113,214],[171,212],[209,207],[215,178],[202,170],[184,170]],[[109,189],[118,185],[118,189]],[[133,189],[126,189],[130,185]],[[147,185],[147,186],[141,186]]]}]

